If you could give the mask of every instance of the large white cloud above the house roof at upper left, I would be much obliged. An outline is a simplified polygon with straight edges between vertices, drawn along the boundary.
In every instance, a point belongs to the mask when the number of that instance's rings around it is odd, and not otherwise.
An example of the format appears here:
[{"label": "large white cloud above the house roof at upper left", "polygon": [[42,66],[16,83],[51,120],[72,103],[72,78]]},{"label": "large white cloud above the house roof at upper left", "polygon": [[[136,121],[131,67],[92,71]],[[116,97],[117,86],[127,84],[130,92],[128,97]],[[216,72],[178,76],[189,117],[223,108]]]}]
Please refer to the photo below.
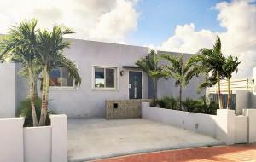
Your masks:
[{"label": "large white cloud above the house roof at upper left", "polygon": [[0,1],[0,33],[24,19],[38,26],[64,24],[72,38],[122,42],[137,27],[137,0],[6,0]]}]

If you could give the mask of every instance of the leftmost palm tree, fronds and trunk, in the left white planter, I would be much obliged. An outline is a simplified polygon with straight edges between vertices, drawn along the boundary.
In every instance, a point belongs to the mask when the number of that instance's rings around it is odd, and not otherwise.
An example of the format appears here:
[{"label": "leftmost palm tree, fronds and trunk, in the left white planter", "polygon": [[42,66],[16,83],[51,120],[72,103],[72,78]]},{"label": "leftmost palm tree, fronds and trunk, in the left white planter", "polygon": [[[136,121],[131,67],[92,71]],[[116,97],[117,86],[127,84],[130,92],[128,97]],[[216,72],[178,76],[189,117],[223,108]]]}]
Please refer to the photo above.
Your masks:
[{"label": "leftmost palm tree, fronds and trunk, in the left white planter", "polygon": [[35,73],[34,62],[37,52],[35,46],[36,41],[36,26],[37,20],[23,21],[17,26],[11,26],[9,34],[3,38],[3,42],[0,43],[1,55],[3,57],[10,56],[12,60],[22,63],[22,71],[26,71],[27,78],[29,80],[29,96],[32,108],[32,120],[33,125],[38,125],[37,113],[35,110]]}]

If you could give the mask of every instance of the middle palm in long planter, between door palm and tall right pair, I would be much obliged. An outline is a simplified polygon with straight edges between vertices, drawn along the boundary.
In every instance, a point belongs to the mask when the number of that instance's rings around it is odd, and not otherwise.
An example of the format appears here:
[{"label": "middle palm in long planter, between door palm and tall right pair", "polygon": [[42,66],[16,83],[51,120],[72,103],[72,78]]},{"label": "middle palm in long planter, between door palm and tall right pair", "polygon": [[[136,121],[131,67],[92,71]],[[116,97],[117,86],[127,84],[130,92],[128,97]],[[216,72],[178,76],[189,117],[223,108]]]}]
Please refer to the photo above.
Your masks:
[{"label": "middle palm in long planter, between door palm and tall right pair", "polygon": [[183,87],[189,84],[189,80],[196,75],[195,69],[190,68],[189,64],[183,64],[183,55],[161,55],[167,61],[163,66],[162,73],[166,78],[174,78],[175,86],[179,87],[179,109],[182,110]]}]

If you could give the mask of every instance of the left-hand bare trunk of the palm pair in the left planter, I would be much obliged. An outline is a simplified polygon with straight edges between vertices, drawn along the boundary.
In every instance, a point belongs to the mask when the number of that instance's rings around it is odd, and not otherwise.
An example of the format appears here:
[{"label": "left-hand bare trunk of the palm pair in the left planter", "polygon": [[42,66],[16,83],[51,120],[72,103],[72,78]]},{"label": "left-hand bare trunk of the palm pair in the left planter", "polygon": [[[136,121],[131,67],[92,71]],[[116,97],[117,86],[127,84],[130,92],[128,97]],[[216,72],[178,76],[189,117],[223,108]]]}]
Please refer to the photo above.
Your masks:
[{"label": "left-hand bare trunk of the palm pair in the left planter", "polygon": [[28,68],[29,74],[29,96],[30,96],[30,104],[32,110],[32,120],[33,126],[38,126],[38,117],[35,107],[35,94],[34,94],[34,78],[32,77],[32,69]]}]

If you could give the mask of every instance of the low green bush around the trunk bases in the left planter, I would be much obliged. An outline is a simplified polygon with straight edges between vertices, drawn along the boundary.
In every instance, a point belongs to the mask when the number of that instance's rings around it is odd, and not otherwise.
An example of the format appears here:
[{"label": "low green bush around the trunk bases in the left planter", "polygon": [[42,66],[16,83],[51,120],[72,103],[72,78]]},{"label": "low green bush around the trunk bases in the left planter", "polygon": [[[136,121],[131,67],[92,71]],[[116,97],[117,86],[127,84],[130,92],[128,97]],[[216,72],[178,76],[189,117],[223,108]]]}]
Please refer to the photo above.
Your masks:
[{"label": "low green bush around the trunk bases in the left planter", "polygon": [[[41,114],[41,99],[39,97],[36,97],[35,99],[35,107],[36,107],[36,112],[38,116],[38,120],[40,119],[40,114]],[[46,125],[50,125],[50,119],[49,119],[49,114],[54,114],[54,112],[48,110],[47,113],[47,118],[46,118]],[[32,127],[33,126],[33,121],[32,121],[32,111],[31,111],[31,105],[30,105],[30,99],[26,98],[25,100],[21,101],[18,107],[18,117],[24,117],[25,122],[24,122],[24,127]]]}]

